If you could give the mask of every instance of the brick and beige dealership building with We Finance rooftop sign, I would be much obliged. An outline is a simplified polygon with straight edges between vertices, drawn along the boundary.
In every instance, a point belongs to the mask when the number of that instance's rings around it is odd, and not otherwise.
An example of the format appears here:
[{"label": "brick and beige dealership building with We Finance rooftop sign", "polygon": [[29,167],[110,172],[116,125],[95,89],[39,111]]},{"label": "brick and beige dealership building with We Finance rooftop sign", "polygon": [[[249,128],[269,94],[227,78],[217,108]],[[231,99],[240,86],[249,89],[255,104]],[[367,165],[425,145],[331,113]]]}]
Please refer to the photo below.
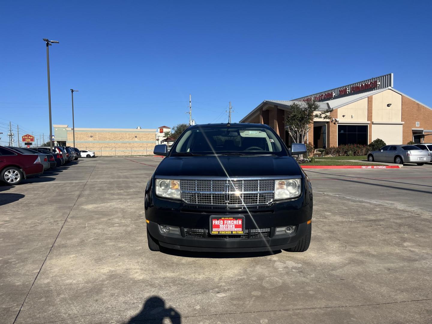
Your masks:
[{"label": "brick and beige dealership building with We Finance rooftop sign", "polygon": [[393,88],[393,73],[297,99],[264,100],[240,122],[270,125],[291,145],[285,127],[290,105],[315,100],[318,110],[333,109],[328,119],[315,118],[308,142],[315,148],[368,144],[432,143],[432,108]]}]

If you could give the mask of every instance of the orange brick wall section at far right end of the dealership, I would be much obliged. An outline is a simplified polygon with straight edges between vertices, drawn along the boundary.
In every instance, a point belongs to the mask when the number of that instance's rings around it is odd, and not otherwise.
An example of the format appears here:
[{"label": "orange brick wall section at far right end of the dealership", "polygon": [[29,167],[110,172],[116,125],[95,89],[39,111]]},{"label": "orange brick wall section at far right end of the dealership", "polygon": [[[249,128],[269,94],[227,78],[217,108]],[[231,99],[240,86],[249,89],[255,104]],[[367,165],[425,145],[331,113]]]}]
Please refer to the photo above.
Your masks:
[{"label": "orange brick wall section at far right end of the dealership", "polygon": [[[414,100],[402,96],[402,141],[404,144],[413,140],[413,128],[432,130],[432,110],[415,102]],[[416,126],[416,122],[420,126]],[[425,135],[427,133],[425,132]],[[425,143],[432,142],[432,135],[425,137]]]}]

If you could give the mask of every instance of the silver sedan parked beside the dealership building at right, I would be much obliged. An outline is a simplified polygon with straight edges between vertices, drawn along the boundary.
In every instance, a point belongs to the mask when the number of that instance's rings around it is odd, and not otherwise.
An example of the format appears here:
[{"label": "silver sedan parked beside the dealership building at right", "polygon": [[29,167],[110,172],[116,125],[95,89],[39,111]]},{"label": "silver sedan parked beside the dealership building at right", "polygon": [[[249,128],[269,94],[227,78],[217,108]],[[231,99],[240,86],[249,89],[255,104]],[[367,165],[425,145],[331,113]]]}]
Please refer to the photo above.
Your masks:
[{"label": "silver sedan parked beside the dealership building at right", "polygon": [[415,145],[386,145],[378,151],[368,153],[369,162],[416,163],[423,165],[431,161],[429,151]]}]

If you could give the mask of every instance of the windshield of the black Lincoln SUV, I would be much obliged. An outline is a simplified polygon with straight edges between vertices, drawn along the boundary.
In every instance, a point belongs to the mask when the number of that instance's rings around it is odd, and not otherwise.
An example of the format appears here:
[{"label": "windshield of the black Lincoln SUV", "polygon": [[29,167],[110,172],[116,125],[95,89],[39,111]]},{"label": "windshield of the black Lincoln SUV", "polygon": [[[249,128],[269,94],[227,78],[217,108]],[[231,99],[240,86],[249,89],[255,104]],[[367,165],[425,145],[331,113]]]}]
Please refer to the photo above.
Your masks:
[{"label": "windshield of the black Lincoln SUV", "polygon": [[259,126],[194,127],[186,130],[172,149],[172,155],[182,154],[288,155],[279,137]]}]

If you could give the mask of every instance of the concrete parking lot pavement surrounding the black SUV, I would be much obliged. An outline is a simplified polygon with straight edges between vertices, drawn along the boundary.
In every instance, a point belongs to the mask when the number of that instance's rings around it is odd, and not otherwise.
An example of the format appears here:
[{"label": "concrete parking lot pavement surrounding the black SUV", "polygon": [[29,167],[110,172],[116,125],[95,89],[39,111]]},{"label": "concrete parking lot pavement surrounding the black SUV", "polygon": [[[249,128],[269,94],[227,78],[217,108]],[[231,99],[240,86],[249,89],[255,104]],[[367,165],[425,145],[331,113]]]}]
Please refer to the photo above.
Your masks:
[{"label": "concrete parking lot pavement surrounding the black SUV", "polygon": [[431,323],[432,165],[309,170],[307,252],[197,254],[147,248],[160,160],[0,186],[0,323]]}]

